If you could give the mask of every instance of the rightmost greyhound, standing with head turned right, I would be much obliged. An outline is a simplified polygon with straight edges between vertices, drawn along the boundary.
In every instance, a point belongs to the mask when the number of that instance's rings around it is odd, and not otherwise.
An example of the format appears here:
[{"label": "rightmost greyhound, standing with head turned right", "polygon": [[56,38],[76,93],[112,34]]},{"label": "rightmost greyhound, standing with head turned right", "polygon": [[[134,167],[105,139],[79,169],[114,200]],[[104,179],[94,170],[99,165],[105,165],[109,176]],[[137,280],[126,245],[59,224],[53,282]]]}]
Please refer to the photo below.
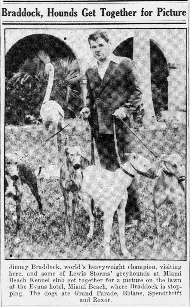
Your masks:
[{"label": "rightmost greyhound, standing with head turned right", "polygon": [[162,161],[162,170],[159,177],[155,181],[153,189],[153,206],[154,206],[154,249],[156,250],[159,245],[159,207],[166,202],[167,203],[167,217],[162,224],[163,227],[169,226],[171,212],[169,210],[169,204],[174,205],[176,227],[174,227],[174,238],[172,244],[172,250],[178,249],[178,228],[180,221],[180,201],[182,197],[182,190],[185,193],[185,187],[183,181],[185,180],[185,167],[181,161],[179,154],[163,154],[160,158]]}]

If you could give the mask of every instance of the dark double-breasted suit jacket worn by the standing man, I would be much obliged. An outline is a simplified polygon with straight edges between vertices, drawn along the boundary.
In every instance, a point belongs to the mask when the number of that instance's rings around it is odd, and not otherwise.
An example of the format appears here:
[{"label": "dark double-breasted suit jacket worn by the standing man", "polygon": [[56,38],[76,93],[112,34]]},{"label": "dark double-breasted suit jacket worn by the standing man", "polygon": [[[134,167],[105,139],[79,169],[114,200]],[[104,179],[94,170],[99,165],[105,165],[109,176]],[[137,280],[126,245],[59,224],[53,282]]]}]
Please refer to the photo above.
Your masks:
[{"label": "dark double-breasted suit jacket worn by the standing man", "polygon": [[[96,65],[87,69],[87,107],[91,115],[89,123],[93,136],[113,134],[113,113],[122,108],[129,116],[135,112],[142,98],[141,87],[133,61],[127,57],[117,57],[110,61],[103,80]],[[116,121],[116,133],[122,133],[123,124]]]}]

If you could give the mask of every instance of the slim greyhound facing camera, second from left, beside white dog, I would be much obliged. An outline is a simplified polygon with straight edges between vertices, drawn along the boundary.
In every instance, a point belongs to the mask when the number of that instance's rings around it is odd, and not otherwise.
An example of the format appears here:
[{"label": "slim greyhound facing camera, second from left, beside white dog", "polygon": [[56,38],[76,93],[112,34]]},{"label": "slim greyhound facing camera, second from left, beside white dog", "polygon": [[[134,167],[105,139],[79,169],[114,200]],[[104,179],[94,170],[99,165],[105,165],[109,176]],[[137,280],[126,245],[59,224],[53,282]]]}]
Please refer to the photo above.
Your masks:
[{"label": "slim greyhound facing camera, second from left, beside white dog", "polygon": [[[89,161],[82,156],[81,146],[67,146],[68,136],[66,137],[66,160],[60,169],[60,187],[64,197],[64,211],[66,224],[66,237],[70,238],[70,231],[74,227],[74,217],[76,206],[80,200],[79,193],[82,188],[83,169],[89,166]],[[72,199],[72,216],[69,225],[69,192],[73,193]]]}]

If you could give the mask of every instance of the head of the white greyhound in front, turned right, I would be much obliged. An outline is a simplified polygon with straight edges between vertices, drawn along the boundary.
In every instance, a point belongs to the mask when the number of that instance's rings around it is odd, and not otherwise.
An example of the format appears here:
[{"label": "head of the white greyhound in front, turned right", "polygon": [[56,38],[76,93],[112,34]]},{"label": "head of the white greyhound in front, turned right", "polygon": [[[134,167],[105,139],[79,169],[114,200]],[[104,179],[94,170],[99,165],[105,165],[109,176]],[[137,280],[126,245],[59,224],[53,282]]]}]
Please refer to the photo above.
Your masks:
[{"label": "head of the white greyhound in front, turned right", "polygon": [[157,170],[152,167],[152,163],[145,158],[142,154],[136,153],[125,153],[126,157],[129,158],[130,164],[137,171],[138,174],[148,177],[150,179],[155,179],[158,177]]}]

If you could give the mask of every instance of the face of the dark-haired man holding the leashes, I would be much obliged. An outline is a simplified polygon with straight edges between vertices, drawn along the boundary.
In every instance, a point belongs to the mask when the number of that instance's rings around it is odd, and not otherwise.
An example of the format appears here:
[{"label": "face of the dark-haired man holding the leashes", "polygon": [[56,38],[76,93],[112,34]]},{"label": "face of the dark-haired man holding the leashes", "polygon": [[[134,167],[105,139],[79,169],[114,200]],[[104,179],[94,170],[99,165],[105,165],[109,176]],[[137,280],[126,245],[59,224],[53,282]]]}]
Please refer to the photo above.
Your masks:
[{"label": "face of the dark-haired man holding the leashes", "polygon": [[90,41],[90,48],[93,56],[99,61],[105,60],[110,55],[110,43],[101,37],[96,41]]}]

